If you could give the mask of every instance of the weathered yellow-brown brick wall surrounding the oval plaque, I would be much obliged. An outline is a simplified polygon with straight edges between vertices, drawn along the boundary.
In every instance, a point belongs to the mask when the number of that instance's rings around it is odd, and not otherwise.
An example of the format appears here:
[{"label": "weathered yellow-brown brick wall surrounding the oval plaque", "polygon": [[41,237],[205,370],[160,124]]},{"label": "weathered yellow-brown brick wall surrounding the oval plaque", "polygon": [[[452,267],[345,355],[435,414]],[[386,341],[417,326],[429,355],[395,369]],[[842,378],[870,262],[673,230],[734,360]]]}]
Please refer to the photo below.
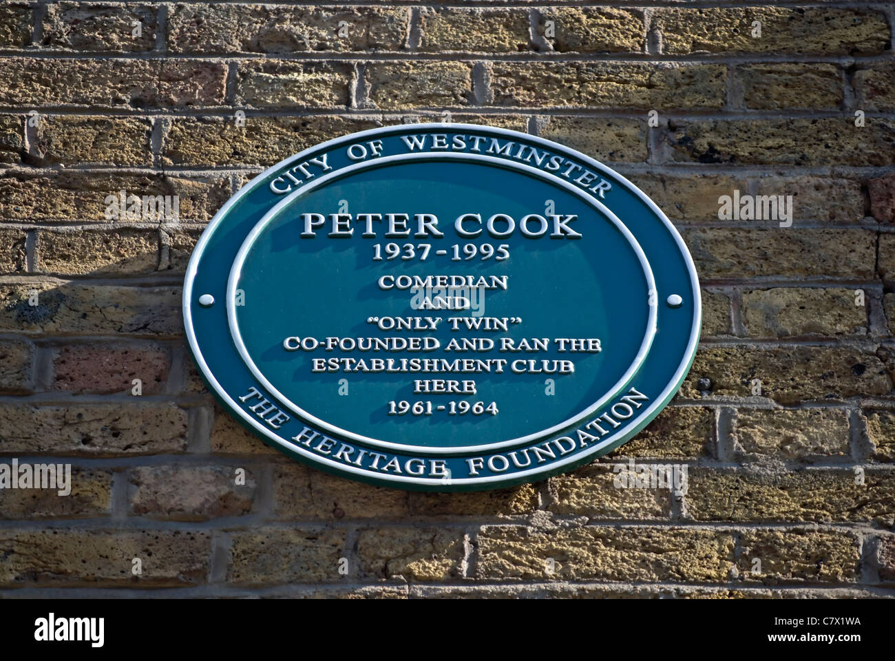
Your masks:
[{"label": "weathered yellow-brown brick wall surrounding the oval plaque", "polygon": [[[74,472],[69,496],[0,491],[0,597],[895,595],[893,25],[877,2],[0,4],[0,463]],[[269,450],[180,316],[251,176],[446,111],[617,168],[703,284],[647,430],[485,494]],[[179,195],[180,220],[107,220],[120,190]],[[720,220],[735,190],[793,195],[792,227]],[[686,495],[613,488],[627,458],[686,465]]]}]

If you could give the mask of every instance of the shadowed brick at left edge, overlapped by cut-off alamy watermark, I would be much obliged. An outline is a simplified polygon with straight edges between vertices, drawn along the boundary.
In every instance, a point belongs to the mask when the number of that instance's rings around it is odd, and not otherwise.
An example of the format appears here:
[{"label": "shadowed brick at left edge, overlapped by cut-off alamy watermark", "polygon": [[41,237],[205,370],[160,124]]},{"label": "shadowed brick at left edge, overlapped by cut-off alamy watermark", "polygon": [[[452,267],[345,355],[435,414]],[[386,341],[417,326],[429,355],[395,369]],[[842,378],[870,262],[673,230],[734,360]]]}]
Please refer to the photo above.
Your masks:
[{"label": "shadowed brick at left edge, overlapped by cut-off alamy watermark", "polygon": [[[9,463],[4,460],[3,463]],[[48,462],[31,464],[35,468]],[[63,464],[56,464],[56,475],[64,474]],[[59,482],[56,482],[59,486]],[[72,468],[70,492],[59,494],[51,489],[0,490],[0,519],[86,519],[107,515],[112,503],[112,471]]]}]

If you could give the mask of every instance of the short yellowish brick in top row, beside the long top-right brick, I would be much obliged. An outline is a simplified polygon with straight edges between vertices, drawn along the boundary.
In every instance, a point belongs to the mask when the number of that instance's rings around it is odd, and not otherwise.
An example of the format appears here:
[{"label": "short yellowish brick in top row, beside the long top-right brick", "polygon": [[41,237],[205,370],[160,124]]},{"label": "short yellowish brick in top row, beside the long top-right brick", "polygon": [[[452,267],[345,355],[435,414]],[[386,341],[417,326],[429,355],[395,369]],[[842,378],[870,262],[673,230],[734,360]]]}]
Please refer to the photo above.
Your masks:
[{"label": "short yellowish brick in top row, beside the long top-right brick", "polygon": [[539,11],[539,33],[553,21],[556,36],[546,38],[561,53],[642,53],[644,14],[614,7],[550,7]]}]

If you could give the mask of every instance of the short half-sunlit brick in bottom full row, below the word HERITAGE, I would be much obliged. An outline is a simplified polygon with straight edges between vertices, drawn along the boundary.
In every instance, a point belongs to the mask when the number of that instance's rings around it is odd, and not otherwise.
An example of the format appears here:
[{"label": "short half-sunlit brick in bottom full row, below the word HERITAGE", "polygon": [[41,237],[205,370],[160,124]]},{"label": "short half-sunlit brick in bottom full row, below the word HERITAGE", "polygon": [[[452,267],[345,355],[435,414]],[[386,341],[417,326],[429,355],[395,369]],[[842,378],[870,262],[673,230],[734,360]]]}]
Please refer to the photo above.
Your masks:
[{"label": "short half-sunlit brick in bottom full row, below the word HERITAGE", "polygon": [[464,535],[439,528],[372,528],[358,533],[357,554],[363,578],[456,579]]}]

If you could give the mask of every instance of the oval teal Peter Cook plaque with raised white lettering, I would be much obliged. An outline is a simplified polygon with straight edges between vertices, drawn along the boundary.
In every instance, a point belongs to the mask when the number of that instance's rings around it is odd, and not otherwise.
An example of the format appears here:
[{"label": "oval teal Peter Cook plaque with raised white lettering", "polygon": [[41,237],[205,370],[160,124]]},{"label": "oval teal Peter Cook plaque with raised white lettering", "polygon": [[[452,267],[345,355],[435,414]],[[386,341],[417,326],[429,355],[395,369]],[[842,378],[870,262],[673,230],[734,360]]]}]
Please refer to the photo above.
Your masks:
[{"label": "oval teal Peter Cook plaque with raised white lettering", "polygon": [[678,232],[601,163],[525,133],[405,124],[255,177],[192,254],[183,318],[229,413],[378,485],[532,482],[626,442],[695,354]]}]

